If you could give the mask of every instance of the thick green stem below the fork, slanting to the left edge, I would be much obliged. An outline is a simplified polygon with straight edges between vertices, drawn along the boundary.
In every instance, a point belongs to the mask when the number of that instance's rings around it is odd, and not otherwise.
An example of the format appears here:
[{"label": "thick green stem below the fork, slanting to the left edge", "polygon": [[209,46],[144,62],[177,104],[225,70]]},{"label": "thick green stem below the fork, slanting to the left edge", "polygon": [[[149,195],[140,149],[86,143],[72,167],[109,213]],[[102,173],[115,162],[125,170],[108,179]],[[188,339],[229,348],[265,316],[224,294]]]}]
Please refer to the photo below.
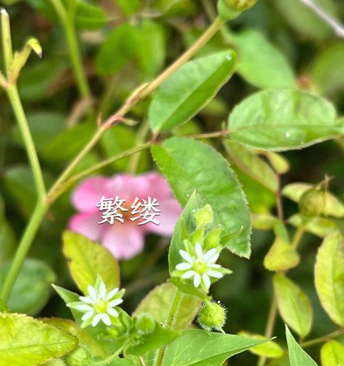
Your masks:
[{"label": "thick green stem below the fork, slanting to the left edge", "polygon": [[10,271],[8,272],[5,283],[3,284],[0,297],[4,302],[8,301],[8,298],[10,297],[14,282],[19,275],[23,261],[30,250],[32,241],[39,229],[39,225],[41,224],[46,211],[47,206],[45,206],[43,201],[39,200],[34,208],[28,226],[25,228],[17,252],[12,260]]}]

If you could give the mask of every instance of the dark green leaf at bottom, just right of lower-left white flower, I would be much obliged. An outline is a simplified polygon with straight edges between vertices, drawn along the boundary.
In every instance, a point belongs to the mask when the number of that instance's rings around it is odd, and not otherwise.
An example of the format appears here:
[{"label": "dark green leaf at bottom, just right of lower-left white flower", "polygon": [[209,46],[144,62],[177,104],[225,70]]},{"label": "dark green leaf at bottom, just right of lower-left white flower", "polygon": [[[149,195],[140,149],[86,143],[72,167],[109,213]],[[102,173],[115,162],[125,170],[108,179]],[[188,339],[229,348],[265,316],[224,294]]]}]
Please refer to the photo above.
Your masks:
[{"label": "dark green leaf at bottom, just right of lower-left white flower", "polygon": [[140,341],[133,345],[130,345],[125,353],[133,354],[134,356],[143,356],[149,351],[159,349],[171,343],[175,338],[179,336],[180,332],[175,330],[164,328],[155,321],[155,327],[153,332],[142,334]]}]

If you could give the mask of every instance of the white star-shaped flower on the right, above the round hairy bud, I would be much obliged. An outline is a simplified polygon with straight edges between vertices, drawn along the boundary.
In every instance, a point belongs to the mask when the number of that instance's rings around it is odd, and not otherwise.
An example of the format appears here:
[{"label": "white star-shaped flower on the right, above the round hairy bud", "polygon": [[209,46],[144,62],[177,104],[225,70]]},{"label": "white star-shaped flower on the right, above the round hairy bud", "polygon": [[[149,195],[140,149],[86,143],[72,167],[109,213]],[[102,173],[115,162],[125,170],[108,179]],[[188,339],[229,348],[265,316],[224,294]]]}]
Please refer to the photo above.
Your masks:
[{"label": "white star-shaped flower on the right, above the round hairy bud", "polygon": [[195,244],[195,255],[191,255],[186,250],[180,250],[180,255],[185,259],[184,263],[179,263],[175,269],[180,272],[182,279],[192,279],[195,288],[204,287],[208,290],[211,286],[211,277],[221,279],[224,274],[230,273],[226,268],[222,268],[216,264],[219,258],[219,250],[212,248],[207,252],[203,252],[199,242]]}]

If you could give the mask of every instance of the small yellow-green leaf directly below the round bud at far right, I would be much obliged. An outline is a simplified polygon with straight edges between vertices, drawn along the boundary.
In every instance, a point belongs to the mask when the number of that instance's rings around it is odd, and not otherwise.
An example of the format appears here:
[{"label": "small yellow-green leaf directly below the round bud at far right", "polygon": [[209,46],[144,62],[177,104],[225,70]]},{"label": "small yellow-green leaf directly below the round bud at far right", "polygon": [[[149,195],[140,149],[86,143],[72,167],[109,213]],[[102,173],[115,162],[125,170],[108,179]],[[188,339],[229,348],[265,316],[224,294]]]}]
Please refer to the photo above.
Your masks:
[{"label": "small yellow-green leaf directly below the round bud at far right", "polygon": [[288,222],[297,228],[302,225],[305,231],[317,237],[325,237],[338,229],[334,222],[325,217],[312,217],[305,220],[301,215],[295,214],[289,217]]}]

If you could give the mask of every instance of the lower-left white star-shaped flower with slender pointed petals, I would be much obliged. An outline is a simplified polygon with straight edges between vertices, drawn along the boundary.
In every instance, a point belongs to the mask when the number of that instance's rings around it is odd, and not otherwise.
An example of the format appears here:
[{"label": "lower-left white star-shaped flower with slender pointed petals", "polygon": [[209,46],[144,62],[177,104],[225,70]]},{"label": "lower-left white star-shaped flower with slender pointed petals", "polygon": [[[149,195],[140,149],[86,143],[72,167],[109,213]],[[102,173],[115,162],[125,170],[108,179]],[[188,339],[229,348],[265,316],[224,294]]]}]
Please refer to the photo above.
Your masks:
[{"label": "lower-left white star-shaped flower with slender pointed petals", "polygon": [[96,327],[100,321],[110,326],[111,317],[118,317],[115,307],[123,302],[121,298],[124,293],[124,289],[118,291],[118,288],[107,292],[105,283],[98,277],[94,287],[90,285],[87,287],[87,297],[80,296],[80,301],[68,303],[67,306],[85,313],[81,318],[83,321],[81,327],[87,327],[90,324]]}]

